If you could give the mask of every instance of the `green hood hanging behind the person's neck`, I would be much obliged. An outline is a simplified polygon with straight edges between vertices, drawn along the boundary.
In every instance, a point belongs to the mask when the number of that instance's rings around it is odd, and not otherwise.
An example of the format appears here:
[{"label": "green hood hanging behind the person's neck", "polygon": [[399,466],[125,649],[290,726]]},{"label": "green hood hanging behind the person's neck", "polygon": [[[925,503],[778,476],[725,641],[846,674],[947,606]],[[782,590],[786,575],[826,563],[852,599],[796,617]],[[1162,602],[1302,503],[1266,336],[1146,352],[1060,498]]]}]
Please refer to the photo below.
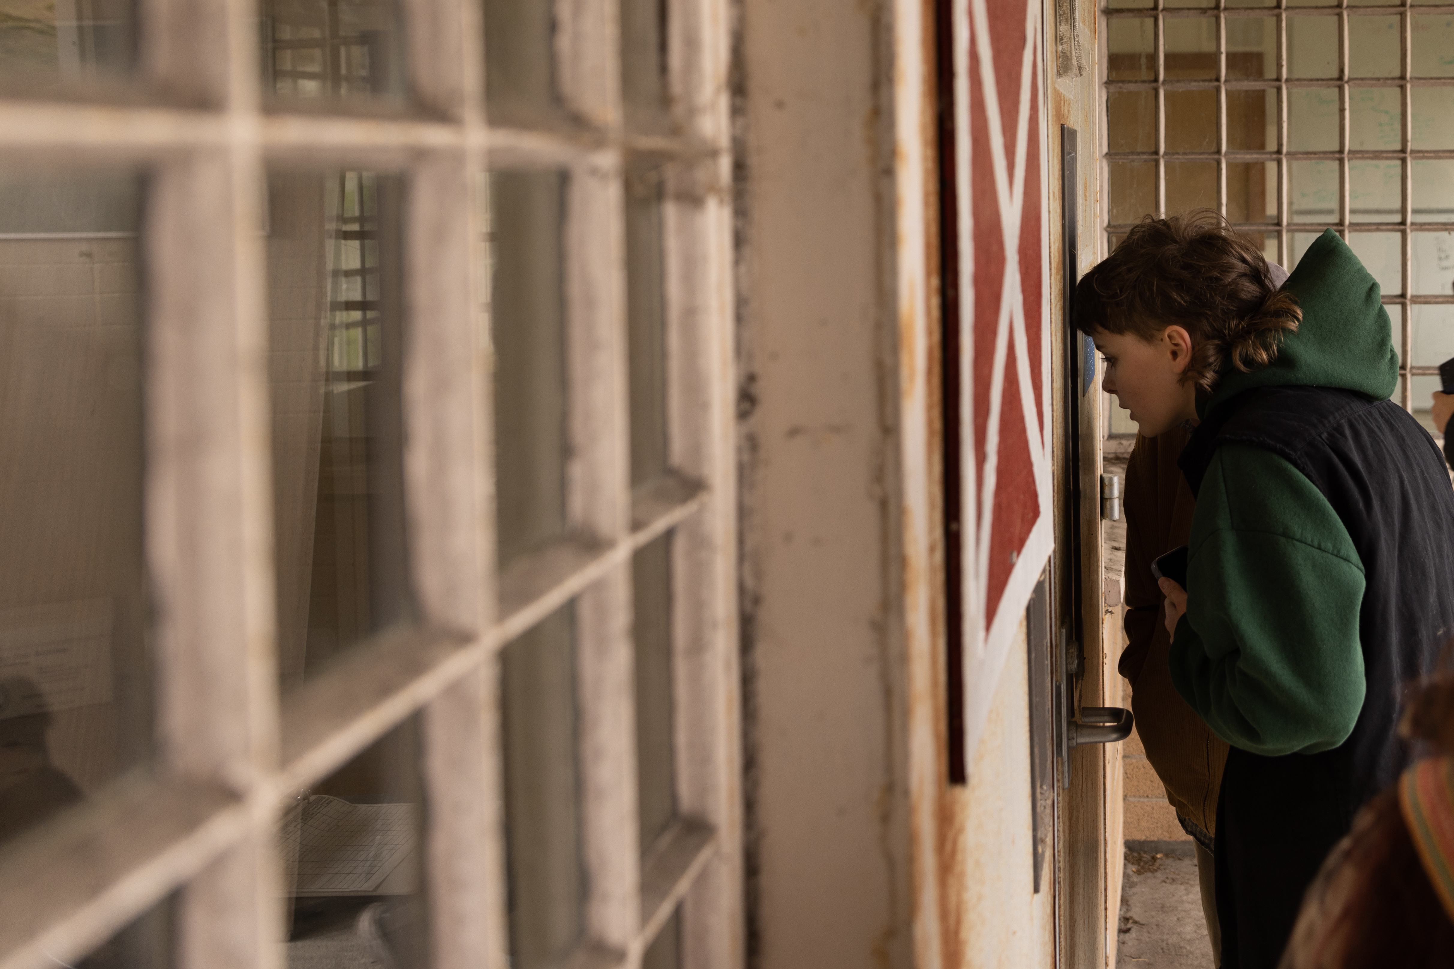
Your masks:
[{"label": "green hood hanging behind the person's neck", "polygon": [[1336,386],[1387,400],[1399,386],[1399,353],[1378,280],[1348,243],[1326,230],[1282,289],[1297,296],[1303,323],[1282,338],[1277,360],[1250,373],[1229,368],[1202,413],[1255,386]]}]

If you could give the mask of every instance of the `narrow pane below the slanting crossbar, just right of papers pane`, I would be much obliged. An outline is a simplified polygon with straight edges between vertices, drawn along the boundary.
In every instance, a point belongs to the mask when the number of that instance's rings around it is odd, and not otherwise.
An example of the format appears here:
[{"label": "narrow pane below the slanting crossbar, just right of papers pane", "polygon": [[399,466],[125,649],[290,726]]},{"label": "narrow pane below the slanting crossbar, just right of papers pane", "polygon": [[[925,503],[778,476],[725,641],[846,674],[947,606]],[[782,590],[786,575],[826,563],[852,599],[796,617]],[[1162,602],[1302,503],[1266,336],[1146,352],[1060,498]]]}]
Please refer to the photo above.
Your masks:
[{"label": "narrow pane below the slanting crossbar, just right of papers pane", "polygon": [[583,925],[574,639],[566,606],[500,652],[515,969],[554,965]]}]

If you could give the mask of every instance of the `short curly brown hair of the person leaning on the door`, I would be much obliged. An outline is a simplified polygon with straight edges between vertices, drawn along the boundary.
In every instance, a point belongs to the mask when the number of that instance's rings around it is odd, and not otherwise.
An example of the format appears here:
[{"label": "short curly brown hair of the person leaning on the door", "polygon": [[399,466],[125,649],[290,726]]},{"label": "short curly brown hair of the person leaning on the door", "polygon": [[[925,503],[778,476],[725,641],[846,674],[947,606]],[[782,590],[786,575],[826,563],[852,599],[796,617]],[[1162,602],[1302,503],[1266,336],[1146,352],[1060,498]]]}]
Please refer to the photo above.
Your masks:
[{"label": "short curly brown hair of the person leaning on the door", "polygon": [[1146,216],[1075,293],[1076,328],[1086,334],[1154,340],[1169,325],[1185,327],[1192,357],[1182,381],[1207,391],[1229,365],[1248,372],[1272,363],[1301,320],[1262,248],[1210,209]]}]

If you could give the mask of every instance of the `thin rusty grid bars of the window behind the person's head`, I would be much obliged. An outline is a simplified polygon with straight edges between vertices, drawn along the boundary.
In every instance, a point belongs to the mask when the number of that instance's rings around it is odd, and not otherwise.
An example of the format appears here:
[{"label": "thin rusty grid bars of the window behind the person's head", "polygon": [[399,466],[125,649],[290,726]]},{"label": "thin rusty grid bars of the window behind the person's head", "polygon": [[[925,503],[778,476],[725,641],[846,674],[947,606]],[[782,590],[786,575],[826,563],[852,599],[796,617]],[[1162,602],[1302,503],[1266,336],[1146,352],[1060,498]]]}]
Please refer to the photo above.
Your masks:
[{"label": "thin rusty grid bars of the window behind the person's head", "polygon": [[[1320,232],[1326,228],[1336,230],[1345,240],[1355,232],[1399,232],[1402,237],[1402,292],[1399,295],[1384,293],[1384,305],[1402,307],[1403,340],[1399,349],[1399,373],[1402,379],[1402,400],[1405,410],[1413,410],[1412,384],[1413,376],[1437,375],[1437,366],[1412,366],[1413,359],[1413,317],[1415,305],[1454,304],[1454,295],[1413,295],[1412,273],[1412,238],[1415,231],[1451,231],[1454,222],[1415,222],[1413,209],[1413,161],[1415,160],[1447,160],[1454,158],[1454,151],[1413,150],[1413,89],[1415,87],[1448,87],[1454,86],[1454,78],[1418,78],[1413,76],[1412,28],[1415,16],[1454,13],[1454,6],[1422,6],[1405,3],[1384,6],[1351,6],[1348,0],[1338,0],[1335,4],[1320,7],[1290,6],[1287,0],[1277,0],[1265,7],[1229,7],[1226,0],[1216,0],[1204,7],[1170,7],[1166,0],[1154,0],[1146,7],[1109,7],[1101,9],[1101,70],[1105,74],[1108,61],[1106,51],[1106,22],[1125,17],[1154,19],[1154,80],[1147,81],[1112,81],[1101,84],[1101,118],[1106,110],[1106,96],[1121,90],[1153,90],[1156,92],[1156,150],[1141,153],[1111,153],[1106,137],[1109,125],[1102,125],[1101,161],[1106,166],[1112,161],[1154,161],[1156,163],[1156,215],[1166,215],[1166,161],[1216,161],[1217,163],[1217,211],[1227,214],[1227,163],[1229,161],[1275,161],[1277,170],[1277,221],[1268,224],[1239,225],[1248,231],[1271,232],[1278,237],[1278,253],[1284,264],[1288,261],[1288,251],[1293,232]],[[1288,16],[1319,16],[1338,17],[1338,77],[1319,80],[1298,80],[1287,76],[1287,17]],[[1397,77],[1368,77],[1354,78],[1349,74],[1349,38],[1357,29],[1358,19],[1364,16],[1399,16],[1399,57],[1400,73]],[[1165,70],[1165,25],[1172,17],[1214,17],[1217,26],[1217,77],[1207,81],[1169,81]],[[1268,80],[1227,80],[1227,20],[1236,17],[1275,17],[1277,20],[1277,76]],[[1338,89],[1338,144],[1336,151],[1288,151],[1287,123],[1287,92],[1294,87],[1336,87]],[[1351,145],[1351,112],[1348,94],[1351,87],[1396,87],[1402,94],[1402,128],[1400,142],[1396,151],[1362,151],[1352,150]],[[1217,150],[1210,153],[1173,153],[1166,151],[1165,106],[1168,90],[1197,90],[1210,89],[1217,92]],[[1271,151],[1229,151],[1227,150],[1227,92],[1269,89],[1277,92],[1277,145]],[[1325,160],[1338,163],[1338,219],[1330,222],[1291,221],[1288,200],[1288,161],[1290,160]],[[1399,160],[1402,163],[1402,215],[1393,222],[1355,222],[1351,219],[1349,208],[1349,161]],[[1108,170],[1102,167],[1102,185],[1109,186]],[[1130,225],[1111,224],[1111,199],[1108,192],[1101,198],[1101,225],[1108,235],[1125,232]],[[1426,407],[1426,404],[1423,404]]]}]

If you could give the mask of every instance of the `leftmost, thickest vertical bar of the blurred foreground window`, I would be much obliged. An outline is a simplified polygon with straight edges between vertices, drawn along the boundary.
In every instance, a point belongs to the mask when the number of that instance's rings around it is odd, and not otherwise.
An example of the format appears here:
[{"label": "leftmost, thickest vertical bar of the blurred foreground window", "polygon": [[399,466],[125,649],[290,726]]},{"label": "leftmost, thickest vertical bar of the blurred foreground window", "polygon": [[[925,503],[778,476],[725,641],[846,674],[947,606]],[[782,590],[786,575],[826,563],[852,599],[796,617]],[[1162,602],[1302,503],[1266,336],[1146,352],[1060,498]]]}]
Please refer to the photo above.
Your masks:
[{"label": "leftmost, thickest vertical bar of the blurred foreground window", "polygon": [[[208,35],[225,49],[172,36],[188,17],[170,17],[169,36],[202,52],[169,70],[188,68],[201,90],[225,70],[233,141],[169,160],[150,190],[145,529],[161,603],[158,760],[247,793],[278,767],[257,92],[250,60],[238,60],[253,36],[241,4],[198,6],[225,12],[228,29]],[[179,893],[176,966],[278,965],[278,885],[272,828],[254,828]]]}]

